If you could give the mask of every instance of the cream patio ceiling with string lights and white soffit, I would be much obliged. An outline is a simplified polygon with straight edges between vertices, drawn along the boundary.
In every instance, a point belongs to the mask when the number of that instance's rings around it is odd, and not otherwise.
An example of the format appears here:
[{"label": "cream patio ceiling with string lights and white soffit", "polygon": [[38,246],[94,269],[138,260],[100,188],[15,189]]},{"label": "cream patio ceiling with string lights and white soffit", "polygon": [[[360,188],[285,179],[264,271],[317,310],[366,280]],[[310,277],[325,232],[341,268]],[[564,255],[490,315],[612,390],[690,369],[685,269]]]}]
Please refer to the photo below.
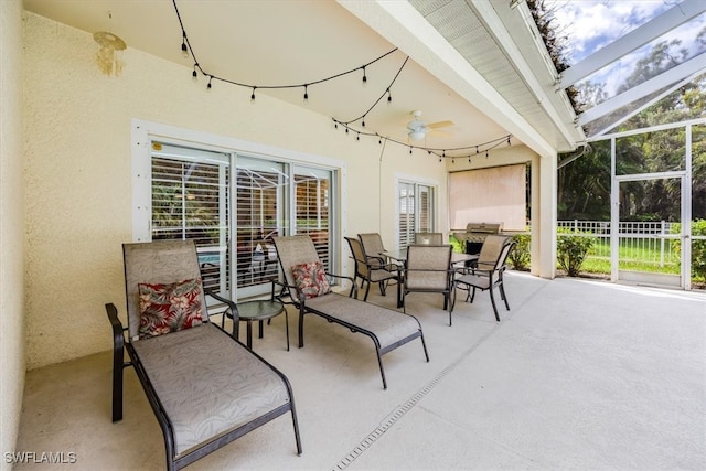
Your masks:
[{"label": "cream patio ceiling with string lights and white soffit", "polygon": [[[89,33],[110,31],[128,49],[188,67],[184,79],[191,79],[194,60],[181,54],[182,31],[169,0],[24,0],[24,6]],[[555,90],[556,74],[536,31],[504,0],[478,4],[179,0],[176,6],[207,74],[258,86],[256,95],[268,94],[343,121],[361,116],[384,95],[409,56],[391,87],[392,103],[386,106],[383,99],[366,116],[365,128],[359,121],[351,125],[354,129],[403,144],[443,149],[512,135],[512,144],[525,143],[543,156],[573,150],[585,141],[565,93]],[[447,28],[458,20],[461,24],[453,28],[468,32],[462,39],[451,38],[453,31]],[[366,67],[365,87],[361,69],[308,87],[307,103],[303,87],[261,88],[312,83],[360,67],[395,47]],[[122,73],[136,73],[127,58],[126,63]],[[205,88],[207,82],[201,77],[195,86]],[[249,106],[252,88],[217,81],[213,86],[242,95]],[[450,120],[453,126],[410,142],[406,124],[417,109],[427,122]]]}]

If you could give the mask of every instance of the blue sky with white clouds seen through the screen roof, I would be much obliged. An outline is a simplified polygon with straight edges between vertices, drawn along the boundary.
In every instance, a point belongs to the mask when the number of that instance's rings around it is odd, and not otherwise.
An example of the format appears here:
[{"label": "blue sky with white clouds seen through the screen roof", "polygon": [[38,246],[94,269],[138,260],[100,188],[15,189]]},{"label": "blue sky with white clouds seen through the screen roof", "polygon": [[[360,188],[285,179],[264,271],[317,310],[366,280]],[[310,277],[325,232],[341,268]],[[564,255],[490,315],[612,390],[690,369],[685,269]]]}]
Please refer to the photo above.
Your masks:
[{"label": "blue sky with white clouds seen through the screen roof", "polygon": [[[706,0],[689,0],[706,1]],[[575,64],[606,44],[646,23],[664,11],[677,7],[680,0],[547,0],[554,10],[559,35],[567,35],[567,60]],[[681,46],[687,47],[691,55],[704,52],[706,47],[696,41],[698,32],[706,28],[706,14],[702,13],[692,21],[674,29],[657,39],[677,39]],[[653,44],[643,46],[625,55],[621,61],[588,77],[595,83],[605,83],[609,96],[613,96],[618,86],[634,69],[640,57],[649,54]]]}]

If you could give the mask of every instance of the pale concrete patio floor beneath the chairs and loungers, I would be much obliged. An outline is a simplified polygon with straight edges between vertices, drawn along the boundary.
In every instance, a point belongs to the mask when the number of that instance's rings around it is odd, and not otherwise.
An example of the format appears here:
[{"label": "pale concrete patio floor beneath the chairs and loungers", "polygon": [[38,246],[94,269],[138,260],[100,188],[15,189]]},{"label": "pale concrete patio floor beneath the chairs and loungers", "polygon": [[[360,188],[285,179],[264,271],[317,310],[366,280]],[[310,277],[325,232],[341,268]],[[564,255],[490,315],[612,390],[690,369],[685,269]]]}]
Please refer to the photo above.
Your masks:
[{"label": "pale concrete patio floor beneath the chairs and loungers", "polygon": [[[704,293],[518,272],[505,283],[501,322],[486,292],[459,297],[452,327],[440,296],[410,295],[430,362],[418,341],[383,356],[387,390],[368,338],[308,315],[298,349],[290,311],[287,352],[274,319],[254,350],[292,384],[303,454],[282,416],[189,469],[706,469]],[[368,301],[394,308],[394,288]],[[110,422],[110,368],[105,352],[28,373],[18,451],[76,463],[15,470],[164,469],[130,368],[125,418]]]}]

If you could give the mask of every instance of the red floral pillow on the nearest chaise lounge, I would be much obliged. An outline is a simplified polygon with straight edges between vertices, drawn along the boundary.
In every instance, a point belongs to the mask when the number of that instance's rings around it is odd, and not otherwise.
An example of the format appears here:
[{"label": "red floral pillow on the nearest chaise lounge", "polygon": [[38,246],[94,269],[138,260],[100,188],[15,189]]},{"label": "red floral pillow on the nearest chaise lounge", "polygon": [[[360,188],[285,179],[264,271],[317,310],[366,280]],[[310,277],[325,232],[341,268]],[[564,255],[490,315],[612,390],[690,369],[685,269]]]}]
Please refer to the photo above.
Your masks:
[{"label": "red floral pillow on the nearest chaise lounge", "polygon": [[139,283],[140,339],[193,328],[203,323],[201,279],[171,285]]}]

